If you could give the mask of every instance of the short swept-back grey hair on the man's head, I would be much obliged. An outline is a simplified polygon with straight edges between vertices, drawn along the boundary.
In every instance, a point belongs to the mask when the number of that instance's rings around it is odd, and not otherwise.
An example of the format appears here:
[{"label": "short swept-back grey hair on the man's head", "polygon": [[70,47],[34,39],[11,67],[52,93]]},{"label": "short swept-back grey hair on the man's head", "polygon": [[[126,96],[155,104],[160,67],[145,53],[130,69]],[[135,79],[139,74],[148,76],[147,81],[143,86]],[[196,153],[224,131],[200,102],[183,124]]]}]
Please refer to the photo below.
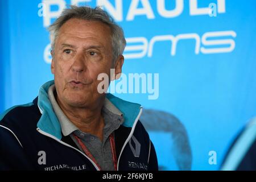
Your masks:
[{"label": "short swept-back grey hair on the man's head", "polygon": [[55,49],[55,41],[61,26],[71,18],[98,21],[108,25],[112,30],[113,60],[115,61],[119,55],[122,55],[126,46],[123,30],[114,22],[114,19],[99,6],[92,9],[88,6],[77,7],[71,5],[71,9],[64,9],[59,18],[57,18],[55,22],[48,27],[53,52]]}]

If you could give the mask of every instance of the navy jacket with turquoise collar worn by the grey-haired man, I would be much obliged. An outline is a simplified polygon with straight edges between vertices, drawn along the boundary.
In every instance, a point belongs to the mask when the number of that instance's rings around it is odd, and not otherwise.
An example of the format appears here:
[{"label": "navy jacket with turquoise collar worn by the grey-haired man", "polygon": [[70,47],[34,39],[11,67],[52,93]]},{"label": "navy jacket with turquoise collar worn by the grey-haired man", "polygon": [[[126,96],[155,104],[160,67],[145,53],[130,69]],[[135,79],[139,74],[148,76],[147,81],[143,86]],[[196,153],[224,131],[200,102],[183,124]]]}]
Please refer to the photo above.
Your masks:
[{"label": "navy jacket with turquoise collar worn by the grey-haired man", "polygon": [[[47,90],[42,85],[38,97],[26,105],[12,107],[0,116],[0,170],[98,170],[73,140],[61,134]],[[125,122],[115,130],[118,170],[158,170],[154,146],[139,121],[139,104],[106,97],[120,111]]]}]

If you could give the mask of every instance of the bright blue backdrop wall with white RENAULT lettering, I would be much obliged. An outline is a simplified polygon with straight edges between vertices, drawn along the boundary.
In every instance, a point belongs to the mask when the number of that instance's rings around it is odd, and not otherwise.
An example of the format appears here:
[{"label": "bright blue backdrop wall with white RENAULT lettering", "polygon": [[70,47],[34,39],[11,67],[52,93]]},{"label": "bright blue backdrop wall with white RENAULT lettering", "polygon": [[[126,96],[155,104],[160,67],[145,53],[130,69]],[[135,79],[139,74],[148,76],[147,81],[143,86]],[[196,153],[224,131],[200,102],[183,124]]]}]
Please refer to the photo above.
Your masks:
[{"label": "bright blue backdrop wall with white RENAULT lettering", "polygon": [[[175,115],[187,130],[193,170],[218,169],[234,135],[256,115],[254,0],[0,2],[1,112],[31,102],[53,79],[46,28],[66,4],[76,4],[103,5],[123,27],[123,73],[159,73],[156,100],[148,93],[115,95]],[[170,135],[150,131],[162,169],[179,169]]]}]

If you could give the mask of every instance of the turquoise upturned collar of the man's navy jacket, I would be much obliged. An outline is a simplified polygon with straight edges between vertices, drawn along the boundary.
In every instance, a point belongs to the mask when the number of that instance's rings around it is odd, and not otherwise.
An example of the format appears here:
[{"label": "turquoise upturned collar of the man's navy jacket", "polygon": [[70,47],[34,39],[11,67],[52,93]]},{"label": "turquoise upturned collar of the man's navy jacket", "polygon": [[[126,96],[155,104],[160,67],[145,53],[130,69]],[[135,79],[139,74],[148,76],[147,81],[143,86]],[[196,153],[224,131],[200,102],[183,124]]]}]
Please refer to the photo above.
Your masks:
[{"label": "turquoise upturned collar of the man's navy jacket", "polygon": [[[51,101],[48,98],[48,89],[54,81],[48,81],[43,84],[39,89],[38,94],[38,107],[42,113],[42,117],[39,119],[38,128],[44,132],[61,139],[61,127],[60,122],[57,119]],[[106,94],[106,97],[112,104],[117,107],[122,113],[125,121],[123,126],[132,127],[135,119],[138,117],[139,111],[141,110],[141,105],[133,102],[127,102],[121,98],[115,97],[110,93]]]}]

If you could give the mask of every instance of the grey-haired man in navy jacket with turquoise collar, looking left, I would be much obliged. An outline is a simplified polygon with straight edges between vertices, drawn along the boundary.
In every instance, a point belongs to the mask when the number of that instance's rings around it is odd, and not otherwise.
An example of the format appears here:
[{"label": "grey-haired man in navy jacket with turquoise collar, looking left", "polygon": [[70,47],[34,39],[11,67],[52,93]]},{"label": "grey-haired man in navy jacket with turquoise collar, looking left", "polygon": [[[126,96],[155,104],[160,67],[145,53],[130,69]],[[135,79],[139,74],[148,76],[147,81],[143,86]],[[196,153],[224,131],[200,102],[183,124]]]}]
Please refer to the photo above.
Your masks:
[{"label": "grey-haired man in navy jacket with turquoise collar, looking left", "polygon": [[49,31],[54,81],[1,115],[0,169],[157,170],[141,105],[98,86],[100,73],[122,71],[122,28],[98,7],[71,6]]}]

